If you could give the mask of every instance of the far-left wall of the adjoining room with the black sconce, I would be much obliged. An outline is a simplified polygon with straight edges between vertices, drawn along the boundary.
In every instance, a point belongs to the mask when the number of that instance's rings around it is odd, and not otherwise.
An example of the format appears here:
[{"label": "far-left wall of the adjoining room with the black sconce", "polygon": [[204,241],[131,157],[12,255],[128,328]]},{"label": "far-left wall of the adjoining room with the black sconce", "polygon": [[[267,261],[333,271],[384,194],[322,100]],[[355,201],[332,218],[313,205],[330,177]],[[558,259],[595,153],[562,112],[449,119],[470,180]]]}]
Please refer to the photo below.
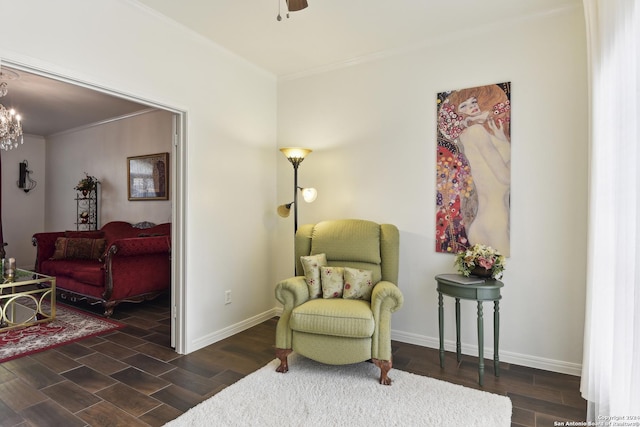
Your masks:
[{"label": "far-left wall of the adjoining room with the black sconce", "polygon": [[[45,142],[40,136],[24,135],[18,148],[2,151],[2,231],[6,256],[16,259],[18,267],[33,269],[36,248],[31,236],[44,227],[46,194]],[[25,193],[18,188],[19,163],[26,160],[33,171],[36,187]]]}]

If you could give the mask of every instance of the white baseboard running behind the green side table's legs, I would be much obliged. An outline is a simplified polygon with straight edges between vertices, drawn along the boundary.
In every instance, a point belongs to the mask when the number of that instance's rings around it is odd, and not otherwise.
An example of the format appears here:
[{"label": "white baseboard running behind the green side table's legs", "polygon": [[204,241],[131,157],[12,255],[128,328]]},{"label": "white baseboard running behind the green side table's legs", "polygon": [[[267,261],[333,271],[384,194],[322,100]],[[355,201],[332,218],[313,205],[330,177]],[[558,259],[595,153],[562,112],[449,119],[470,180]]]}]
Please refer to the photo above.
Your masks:
[{"label": "white baseboard running behind the green side table's legs", "polygon": [[[402,331],[391,331],[391,339],[415,344],[422,347],[440,348],[440,340],[437,337],[428,337],[424,335],[411,334]],[[444,341],[444,349],[447,351],[455,352],[456,343],[453,340]],[[469,356],[478,356],[478,346],[470,344],[462,344],[461,351],[463,354]],[[493,347],[484,349],[485,360],[493,359]],[[514,353],[510,351],[500,350],[500,361],[506,363],[513,363],[514,365],[527,366],[529,368],[543,369],[545,371],[559,372],[561,374],[580,376],[582,373],[582,365],[579,363],[565,362],[562,360],[547,359],[544,357],[530,356],[528,354]],[[486,362],[485,362],[486,363]]]}]

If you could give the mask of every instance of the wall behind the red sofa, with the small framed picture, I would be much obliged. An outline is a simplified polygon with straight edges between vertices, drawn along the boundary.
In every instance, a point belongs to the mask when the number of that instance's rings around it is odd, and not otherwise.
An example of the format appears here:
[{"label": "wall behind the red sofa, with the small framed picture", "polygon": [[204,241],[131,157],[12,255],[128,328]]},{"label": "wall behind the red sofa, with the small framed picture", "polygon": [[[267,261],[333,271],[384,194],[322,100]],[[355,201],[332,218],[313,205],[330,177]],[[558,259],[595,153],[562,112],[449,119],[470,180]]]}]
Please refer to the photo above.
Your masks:
[{"label": "wall behind the red sofa, with the small framed picture", "polygon": [[165,152],[173,156],[172,116],[149,110],[47,137],[47,231],[76,229],[74,187],[85,172],[100,181],[98,228],[110,221],[171,222],[173,194],[170,200],[128,200],[127,157]]}]

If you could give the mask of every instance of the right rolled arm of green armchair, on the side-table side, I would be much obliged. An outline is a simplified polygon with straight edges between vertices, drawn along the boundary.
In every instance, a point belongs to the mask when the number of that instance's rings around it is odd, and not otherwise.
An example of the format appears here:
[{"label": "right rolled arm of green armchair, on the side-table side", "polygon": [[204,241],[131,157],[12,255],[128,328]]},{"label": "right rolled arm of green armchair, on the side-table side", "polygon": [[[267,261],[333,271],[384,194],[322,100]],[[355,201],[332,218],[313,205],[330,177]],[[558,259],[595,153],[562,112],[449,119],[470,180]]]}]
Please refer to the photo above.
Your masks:
[{"label": "right rolled arm of green armchair, on the side-table side", "polygon": [[391,282],[376,284],[371,294],[371,310],[376,322],[371,353],[373,359],[391,361],[391,313],[402,307],[404,296]]}]

